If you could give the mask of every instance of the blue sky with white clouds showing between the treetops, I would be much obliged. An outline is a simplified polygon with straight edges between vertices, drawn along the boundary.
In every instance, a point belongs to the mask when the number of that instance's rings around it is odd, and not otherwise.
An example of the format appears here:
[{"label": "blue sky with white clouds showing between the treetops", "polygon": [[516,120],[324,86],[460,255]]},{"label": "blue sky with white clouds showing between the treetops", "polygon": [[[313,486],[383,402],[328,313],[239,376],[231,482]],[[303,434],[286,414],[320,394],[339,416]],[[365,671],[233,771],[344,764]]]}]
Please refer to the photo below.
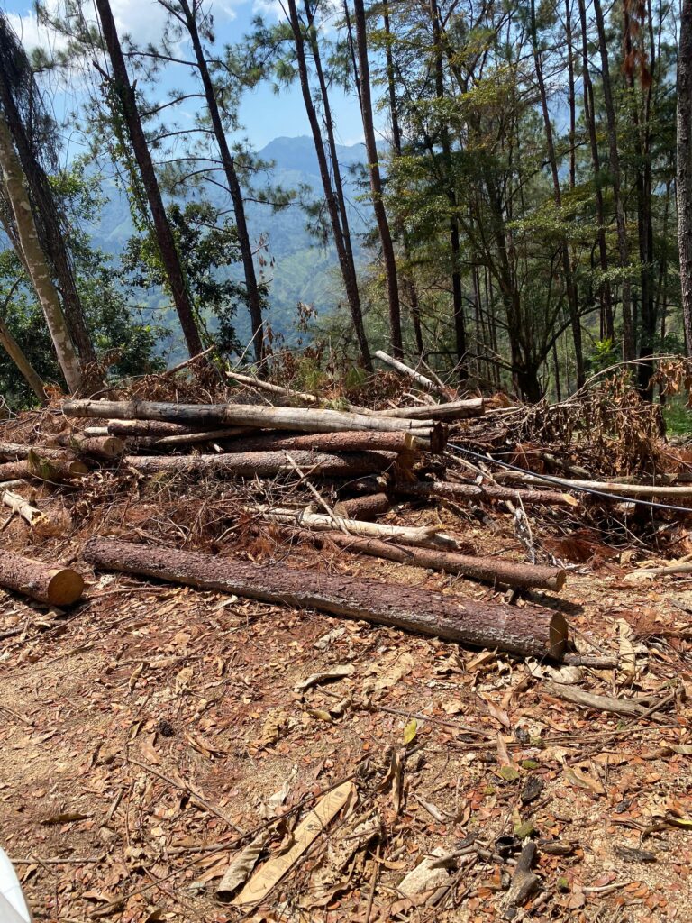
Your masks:
[{"label": "blue sky with white clouds showing between the treetops", "polygon": [[[9,16],[13,28],[28,50],[36,45],[48,47],[55,41],[45,28],[39,26],[33,13],[30,0],[0,0]],[[60,6],[60,0],[49,0]],[[156,0],[111,0],[113,15],[121,34],[129,33],[138,44],[156,42],[161,34],[163,11]],[[276,21],[282,16],[279,0],[210,0],[210,9],[214,16],[217,41],[220,45],[239,41],[250,30],[252,18],[257,13],[268,21]],[[161,96],[174,87],[189,85],[185,68],[176,68],[161,83]],[[190,101],[192,104],[195,101]],[[332,108],[337,122],[337,136],[342,144],[355,144],[363,139],[358,104],[354,98],[347,98],[335,90],[332,95]],[[55,110],[59,113],[65,108],[65,102],[55,100]],[[188,113],[188,117],[192,113]],[[185,113],[179,116],[183,121]],[[263,85],[245,95],[241,104],[240,118],[245,126],[245,136],[251,145],[259,150],[272,138],[280,136],[296,137],[309,134],[307,117],[303,100],[297,85],[291,90],[282,91],[277,96],[270,86]]]}]

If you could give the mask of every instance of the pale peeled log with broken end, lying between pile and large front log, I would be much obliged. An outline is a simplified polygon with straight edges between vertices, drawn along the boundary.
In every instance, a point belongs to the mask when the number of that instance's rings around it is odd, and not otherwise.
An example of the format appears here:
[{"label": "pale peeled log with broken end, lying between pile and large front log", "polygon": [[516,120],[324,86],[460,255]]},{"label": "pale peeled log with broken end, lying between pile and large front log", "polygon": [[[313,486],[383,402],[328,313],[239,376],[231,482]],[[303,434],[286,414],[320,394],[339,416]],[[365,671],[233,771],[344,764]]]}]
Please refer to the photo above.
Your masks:
[{"label": "pale peeled log with broken end, lying between pile and large front log", "polygon": [[348,532],[350,535],[360,535],[364,538],[388,538],[402,542],[404,545],[457,547],[456,540],[451,535],[443,533],[443,527],[439,525],[388,525],[384,522],[342,519],[336,514],[329,516],[325,513],[313,513],[309,509],[289,509],[287,507],[268,507],[263,505],[248,509],[248,512],[253,511],[262,513],[272,522],[295,526],[299,529],[330,532],[332,529],[337,528],[342,532]]}]

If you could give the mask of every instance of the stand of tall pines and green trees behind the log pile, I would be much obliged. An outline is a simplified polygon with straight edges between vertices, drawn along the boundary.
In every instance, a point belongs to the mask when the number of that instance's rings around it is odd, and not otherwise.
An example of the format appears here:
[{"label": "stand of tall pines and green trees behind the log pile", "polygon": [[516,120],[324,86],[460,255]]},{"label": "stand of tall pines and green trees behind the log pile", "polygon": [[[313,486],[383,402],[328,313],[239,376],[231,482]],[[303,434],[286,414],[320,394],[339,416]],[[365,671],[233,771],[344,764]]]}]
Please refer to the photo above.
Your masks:
[{"label": "stand of tall pines and green trees behind the log pile", "polygon": [[[619,361],[652,397],[655,357],[690,353],[692,0],[286,0],[231,45],[211,4],[156,2],[165,28],[146,47],[118,34],[108,0],[39,6],[62,37],[50,55],[27,54],[0,16],[10,406],[43,401],[46,384],[95,391],[161,368],[161,339],[268,372],[282,210],[336,254],[335,271],[315,267],[331,303],[295,306],[316,366],[338,356],[366,372],[384,348],[537,402]],[[161,99],[171,69],[182,89]],[[81,93],[61,125],[49,93],[68,75]],[[317,187],[271,183],[244,138],[239,102],[262,81],[300,88]],[[340,160],[337,88],[362,114],[354,169]],[[66,130],[87,151],[67,164]],[[134,228],[108,255],[85,230],[106,174]],[[152,292],[159,322],[142,310]]]}]

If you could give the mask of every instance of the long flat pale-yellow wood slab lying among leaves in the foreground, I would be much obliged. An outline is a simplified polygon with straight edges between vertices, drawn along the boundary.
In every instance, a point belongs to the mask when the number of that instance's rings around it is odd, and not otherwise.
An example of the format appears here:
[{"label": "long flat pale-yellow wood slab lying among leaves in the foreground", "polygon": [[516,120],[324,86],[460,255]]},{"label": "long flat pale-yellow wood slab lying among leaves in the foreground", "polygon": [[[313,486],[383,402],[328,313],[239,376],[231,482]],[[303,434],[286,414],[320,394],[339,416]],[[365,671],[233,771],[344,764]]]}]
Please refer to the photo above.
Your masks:
[{"label": "long flat pale-yellow wood slab lying among leaves in the foreground", "polygon": [[257,904],[264,900],[271,889],[283,876],[292,869],[292,866],[304,854],[307,847],[316,840],[334,819],[336,814],[346,804],[355,789],[352,782],[344,782],[337,788],[320,798],[315,808],[295,828],[292,834],[292,845],[286,852],[268,859],[257,869],[245,888],[233,901],[234,906],[244,904]]}]

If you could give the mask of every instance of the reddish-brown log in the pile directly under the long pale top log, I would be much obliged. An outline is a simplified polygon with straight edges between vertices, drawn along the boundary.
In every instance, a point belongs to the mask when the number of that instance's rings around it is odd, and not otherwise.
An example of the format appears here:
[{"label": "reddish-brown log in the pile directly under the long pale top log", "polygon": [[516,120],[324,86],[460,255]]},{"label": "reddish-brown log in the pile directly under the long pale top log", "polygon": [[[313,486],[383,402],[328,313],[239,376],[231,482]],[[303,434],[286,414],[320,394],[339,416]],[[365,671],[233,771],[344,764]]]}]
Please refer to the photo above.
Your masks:
[{"label": "reddish-brown log in the pile directly under the long pale top log", "polygon": [[447,427],[439,424],[432,428],[432,438],[421,438],[411,430],[393,433],[374,433],[351,430],[342,433],[257,433],[249,438],[236,438],[229,445],[233,451],[293,451],[295,449],[321,452],[352,452],[382,450],[390,452],[433,451],[440,452],[447,444]]}]

